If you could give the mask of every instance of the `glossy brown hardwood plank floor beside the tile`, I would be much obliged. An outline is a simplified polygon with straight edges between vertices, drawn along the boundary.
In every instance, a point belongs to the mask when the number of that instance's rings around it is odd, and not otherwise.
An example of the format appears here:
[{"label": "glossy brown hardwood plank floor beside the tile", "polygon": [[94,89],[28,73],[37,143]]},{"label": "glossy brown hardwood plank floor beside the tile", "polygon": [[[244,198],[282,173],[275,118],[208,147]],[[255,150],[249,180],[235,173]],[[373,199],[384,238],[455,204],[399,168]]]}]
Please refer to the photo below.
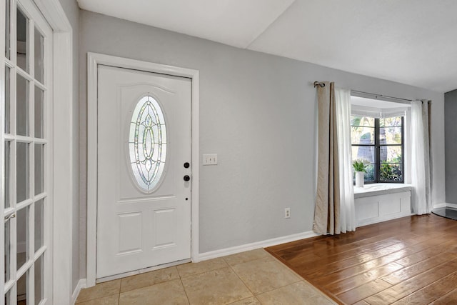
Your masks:
[{"label": "glossy brown hardwood plank floor beside the tile", "polygon": [[457,221],[434,214],[266,251],[341,304],[457,304]]}]

